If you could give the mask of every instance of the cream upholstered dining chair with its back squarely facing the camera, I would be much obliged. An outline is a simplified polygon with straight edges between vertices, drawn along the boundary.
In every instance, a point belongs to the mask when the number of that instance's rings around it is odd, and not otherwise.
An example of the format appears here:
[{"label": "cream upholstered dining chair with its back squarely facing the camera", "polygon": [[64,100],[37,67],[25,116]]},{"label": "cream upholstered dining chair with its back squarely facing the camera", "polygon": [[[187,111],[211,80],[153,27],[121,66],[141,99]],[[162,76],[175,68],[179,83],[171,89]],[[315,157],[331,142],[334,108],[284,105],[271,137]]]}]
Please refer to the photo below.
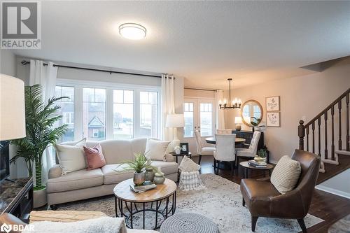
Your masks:
[{"label": "cream upholstered dining chair with its back squarely facing the camera", "polygon": [[236,134],[215,134],[216,150],[214,151],[214,171],[218,174],[219,163],[222,161],[231,163],[231,172],[235,164]]}]

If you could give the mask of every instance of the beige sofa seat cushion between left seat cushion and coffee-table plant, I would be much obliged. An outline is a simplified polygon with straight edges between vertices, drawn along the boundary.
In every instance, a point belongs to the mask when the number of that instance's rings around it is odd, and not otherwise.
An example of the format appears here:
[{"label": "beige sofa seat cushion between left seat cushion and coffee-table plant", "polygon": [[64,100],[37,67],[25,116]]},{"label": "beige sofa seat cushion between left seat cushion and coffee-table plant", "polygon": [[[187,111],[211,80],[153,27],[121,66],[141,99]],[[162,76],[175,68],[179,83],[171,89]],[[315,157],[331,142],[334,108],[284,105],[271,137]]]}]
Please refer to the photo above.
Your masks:
[{"label": "beige sofa seat cushion between left seat cushion and coffee-table plant", "polygon": [[104,174],[104,184],[111,185],[113,183],[120,183],[127,179],[134,177],[134,171],[125,171],[126,164],[106,164],[101,168]]}]

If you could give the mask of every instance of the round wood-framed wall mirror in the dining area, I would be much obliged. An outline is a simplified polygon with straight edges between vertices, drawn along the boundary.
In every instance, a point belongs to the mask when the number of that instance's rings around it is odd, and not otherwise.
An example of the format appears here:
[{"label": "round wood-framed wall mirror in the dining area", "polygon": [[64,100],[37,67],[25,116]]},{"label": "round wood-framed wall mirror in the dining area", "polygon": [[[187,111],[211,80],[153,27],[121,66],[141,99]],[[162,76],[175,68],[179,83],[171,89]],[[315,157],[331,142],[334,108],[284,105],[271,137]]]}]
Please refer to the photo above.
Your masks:
[{"label": "round wood-framed wall mirror in the dining area", "polygon": [[241,120],[250,127],[258,125],[262,120],[261,104],[253,99],[246,101],[241,106]]}]

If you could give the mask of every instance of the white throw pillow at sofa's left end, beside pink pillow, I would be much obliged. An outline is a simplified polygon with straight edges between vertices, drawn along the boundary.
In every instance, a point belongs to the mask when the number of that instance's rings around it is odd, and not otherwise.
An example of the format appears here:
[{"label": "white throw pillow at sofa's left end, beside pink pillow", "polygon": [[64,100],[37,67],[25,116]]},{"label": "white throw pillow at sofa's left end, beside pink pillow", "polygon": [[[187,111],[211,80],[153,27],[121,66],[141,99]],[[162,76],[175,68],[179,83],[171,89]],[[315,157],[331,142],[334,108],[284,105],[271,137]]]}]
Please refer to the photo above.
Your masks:
[{"label": "white throw pillow at sofa's left end, beside pink pillow", "polygon": [[82,139],[72,146],[56,143],[59,167],[62,169],[62,175],[72,171],[79,171],[86,168],[84,149],[86,139]]}]

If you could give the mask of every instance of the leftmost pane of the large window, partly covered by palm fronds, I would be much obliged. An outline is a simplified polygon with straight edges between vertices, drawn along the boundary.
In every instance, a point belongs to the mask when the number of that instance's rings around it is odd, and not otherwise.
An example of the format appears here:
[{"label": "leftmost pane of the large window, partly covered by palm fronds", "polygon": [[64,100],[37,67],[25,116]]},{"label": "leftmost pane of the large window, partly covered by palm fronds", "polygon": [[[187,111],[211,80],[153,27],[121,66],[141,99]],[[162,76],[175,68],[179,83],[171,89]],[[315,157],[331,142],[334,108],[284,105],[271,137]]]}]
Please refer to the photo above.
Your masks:
[{"label": "leftmost pane of the large window, partly covered by palm fronds", "polygon": [[55,97],[69,97],[57,101],[59,108],[59,115],[62,115],[62,119],[56,122],[55,127],[59,125],[68,125],[66,134],[60,141],[73,141],[74,140],[74,87],[56,86]]}]

